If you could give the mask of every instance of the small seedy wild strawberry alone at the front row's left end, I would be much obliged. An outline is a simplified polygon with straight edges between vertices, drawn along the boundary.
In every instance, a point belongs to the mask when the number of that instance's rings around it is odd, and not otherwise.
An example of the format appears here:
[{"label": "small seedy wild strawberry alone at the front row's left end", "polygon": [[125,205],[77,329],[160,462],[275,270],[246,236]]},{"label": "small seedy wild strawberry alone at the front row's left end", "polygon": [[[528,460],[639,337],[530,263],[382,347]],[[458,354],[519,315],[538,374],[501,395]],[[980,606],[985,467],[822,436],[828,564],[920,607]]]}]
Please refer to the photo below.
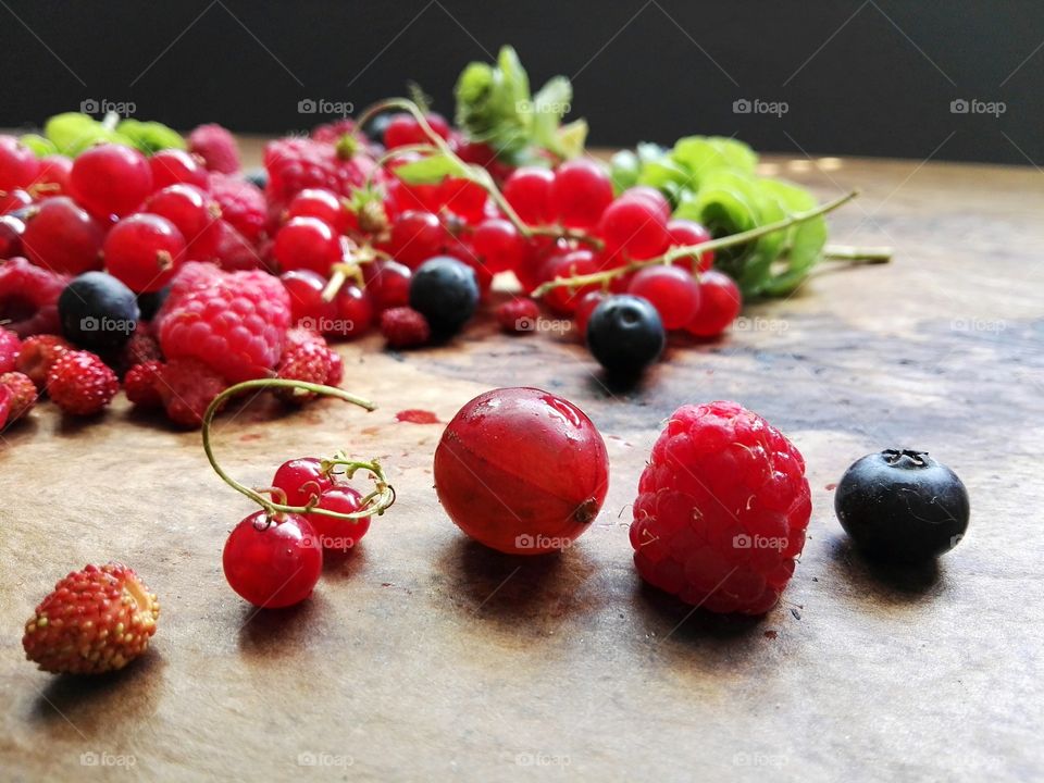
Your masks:
[{"label": "small seedy wild strawberry alone at the front row's left end", "polygon": [[25,624],[25,657],[54,674],[100,674],[140,656],[160,604],[126,566],[88,566],[54,585]]}]

